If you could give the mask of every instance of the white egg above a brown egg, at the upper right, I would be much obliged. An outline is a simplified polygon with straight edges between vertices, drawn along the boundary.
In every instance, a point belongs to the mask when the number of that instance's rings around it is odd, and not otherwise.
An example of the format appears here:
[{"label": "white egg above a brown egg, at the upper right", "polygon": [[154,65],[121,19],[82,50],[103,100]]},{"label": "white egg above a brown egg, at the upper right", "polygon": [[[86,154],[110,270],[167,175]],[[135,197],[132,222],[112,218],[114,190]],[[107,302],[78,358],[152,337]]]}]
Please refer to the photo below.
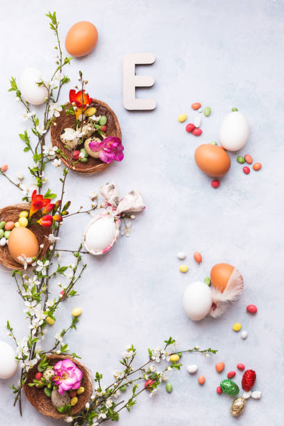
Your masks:
[{"label": "white egg above a brown egg, at the upper right", "polygon": [[248,133],[246,117],[239,111],[232,111],[223,118],[219,129],[219,141],[226,150],[237,151],[248,141]]}]

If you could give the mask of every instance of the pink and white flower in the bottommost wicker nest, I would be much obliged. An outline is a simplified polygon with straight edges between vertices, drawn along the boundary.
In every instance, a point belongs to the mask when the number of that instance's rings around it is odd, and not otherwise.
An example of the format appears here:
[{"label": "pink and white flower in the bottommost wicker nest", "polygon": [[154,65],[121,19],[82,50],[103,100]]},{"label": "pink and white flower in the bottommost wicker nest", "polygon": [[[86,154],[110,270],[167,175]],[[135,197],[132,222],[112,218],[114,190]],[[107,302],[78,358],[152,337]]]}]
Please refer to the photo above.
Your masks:
[{"label": "pink and white flower in the bottommost wicker nest", "polygon": [[59,395],[66,390],[78,389],[81,386],[83,373],[70,359],[63,359],[54,365],[55,376],[52,380],[58,385]]}]

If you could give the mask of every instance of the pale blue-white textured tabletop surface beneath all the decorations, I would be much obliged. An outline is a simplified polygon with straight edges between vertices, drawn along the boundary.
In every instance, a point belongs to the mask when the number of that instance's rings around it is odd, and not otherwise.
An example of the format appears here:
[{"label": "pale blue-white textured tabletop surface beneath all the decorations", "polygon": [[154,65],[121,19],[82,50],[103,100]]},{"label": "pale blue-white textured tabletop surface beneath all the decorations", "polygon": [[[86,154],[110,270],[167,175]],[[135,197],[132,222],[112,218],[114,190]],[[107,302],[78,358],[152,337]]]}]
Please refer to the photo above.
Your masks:
[{"label": "pale blue-white textured tabletop surface beneath all the decorations", "polygon": [[[74,60],[68,75],[75,82],[82,70],[90,95],[116,111],[125,145],[125,160],[105,173],[86,178],[71,174],[67,198],[73,199],[75,210],[88,205],[91,191],[115,180],[122,196],[135,187],[147,205],[137,215],[129,239],[120,238],[102,258],[86,257],[80,295],[64,303],[51,334],[68,324],[74,306],[81,306],[84,314],[78,331],[69,334],[68,342],[93,372],[103,372],[106,385],[130,342],[139,349],[141,363],[148,346],[161,345],[170,335],[180,342],[180,349],[196,343],[219,349],[209,359],[197,354],[182,358],[185,365],[198,364],[205,386],[200,387],[185,368],[173,372],[173,393],[161,388],[153,400],[142,395],[133,411],[123,414],[123,426],[283,424],[284,395],[279,384],[283,373],[283,1],[3,0],[1,163],[9,165],[11,176],[26,171],[28,156],[17,137],[26,123],[19,120],[19,103],[7,92],[8,79],[19,78],[26,66],[47,75],[52,72],[54,39],[45,18],[48,10],[57,12],[62,40],[74,22],[88,19],[97,26],[95,51]],[[157,100],[155,111],[123,109],[122,58],[127,52],[156,56],[154,65],[139,70],[156,79],[154,88],[140,91],[143,97]],[[63,91],[62,103],[70,88]],[[192,120],[190,105],[196,101],[212,108],[210,118],[203,118],[200,138],[187,134],[177,120],[184,112]],[[210,178],[196,167],[194,150],[200,143],[216,140],[219,124],[233,106],[251,126],[240,154],[250,153],[263,168],[244,175],[237,154],[232,154],[230,173],[214,190]],[[47,175],[52,188],[58,187],[58,169],[50,166]],[[17,189],[2,178],[1,206],[16,202]],[[82,215],[68,219],[61,247],[76,248],[87,221]],[[178,271],[180,250],[188,254],[189,272],[184,275]],[[200,265],[192,259],[194,251],[203,253]],[[191,322],[182,309],[184,288],[203,280],[216,262],[229,262],[242,272],[244,294],[223,317]],[[27,329],[22,301],[3,269],[0,289],[0,339],[9,341],[6,319],[20,338]],[[54,285],[52,294],[57,293]],[[258,306],[257,315],[246,313],[248,303]],[[232,331],[235,322],[248,331],[247,340]],[[220,379],[226,377],[216,373],[217,361],[225,361],[226,372],[241,362],[257,373],[255,390],[262,391],[262,399],[248,400],[241,418],[230,416],[228,395],[216,394]],[[239,385],[241,377],[237,372]],[[9,389],[15,380],[0,381],[1,425],[60,424],[41,416],[24,398],[20,419]]]}]

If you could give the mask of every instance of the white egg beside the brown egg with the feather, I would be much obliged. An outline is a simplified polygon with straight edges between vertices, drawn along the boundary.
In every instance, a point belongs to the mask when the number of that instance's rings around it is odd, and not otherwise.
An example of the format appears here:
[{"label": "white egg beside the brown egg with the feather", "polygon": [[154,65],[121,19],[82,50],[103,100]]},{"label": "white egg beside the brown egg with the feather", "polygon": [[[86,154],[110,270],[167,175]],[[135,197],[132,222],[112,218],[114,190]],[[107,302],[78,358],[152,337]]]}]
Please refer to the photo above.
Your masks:
[{"label": "white egg beside the brown egg with the feather", "polygon": [[206,317],[212,306],[212,292],[207,284],[197,281],[184,290],[184,310],[190,319],[199,321]]}]

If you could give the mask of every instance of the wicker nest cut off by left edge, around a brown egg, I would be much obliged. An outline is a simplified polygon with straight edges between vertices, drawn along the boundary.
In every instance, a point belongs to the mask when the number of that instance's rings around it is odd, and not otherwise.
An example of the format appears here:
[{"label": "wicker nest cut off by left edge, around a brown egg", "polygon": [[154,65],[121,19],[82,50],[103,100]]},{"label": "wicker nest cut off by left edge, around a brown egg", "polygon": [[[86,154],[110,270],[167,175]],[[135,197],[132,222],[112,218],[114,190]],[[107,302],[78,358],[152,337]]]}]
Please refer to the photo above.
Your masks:
[{"label": "wicker nest cut off by left edge, around a brown egg", "polygon": [[[13,221],[17,222],[19,219],[19,213],[23,210],[30,210],[31,205],[29,203],[19,203],[15,205],[8,205],[8,207],[3,207],[0,210],[0,221]],[[35,219],[40,219],[40,214],[34,214]],[[36,238],[38,239],[38,244],[43,244],[43,248],[40,251],[40,257],[44,257],[49,249],[49,241],[47,238],[52,232],[51,228],[42,228],[39,223],[35,223],[29,226]],[[0,247],[0,263],[10,269],[22,269],[22,265],[16,262],[10,255],[8,246]]]}]

